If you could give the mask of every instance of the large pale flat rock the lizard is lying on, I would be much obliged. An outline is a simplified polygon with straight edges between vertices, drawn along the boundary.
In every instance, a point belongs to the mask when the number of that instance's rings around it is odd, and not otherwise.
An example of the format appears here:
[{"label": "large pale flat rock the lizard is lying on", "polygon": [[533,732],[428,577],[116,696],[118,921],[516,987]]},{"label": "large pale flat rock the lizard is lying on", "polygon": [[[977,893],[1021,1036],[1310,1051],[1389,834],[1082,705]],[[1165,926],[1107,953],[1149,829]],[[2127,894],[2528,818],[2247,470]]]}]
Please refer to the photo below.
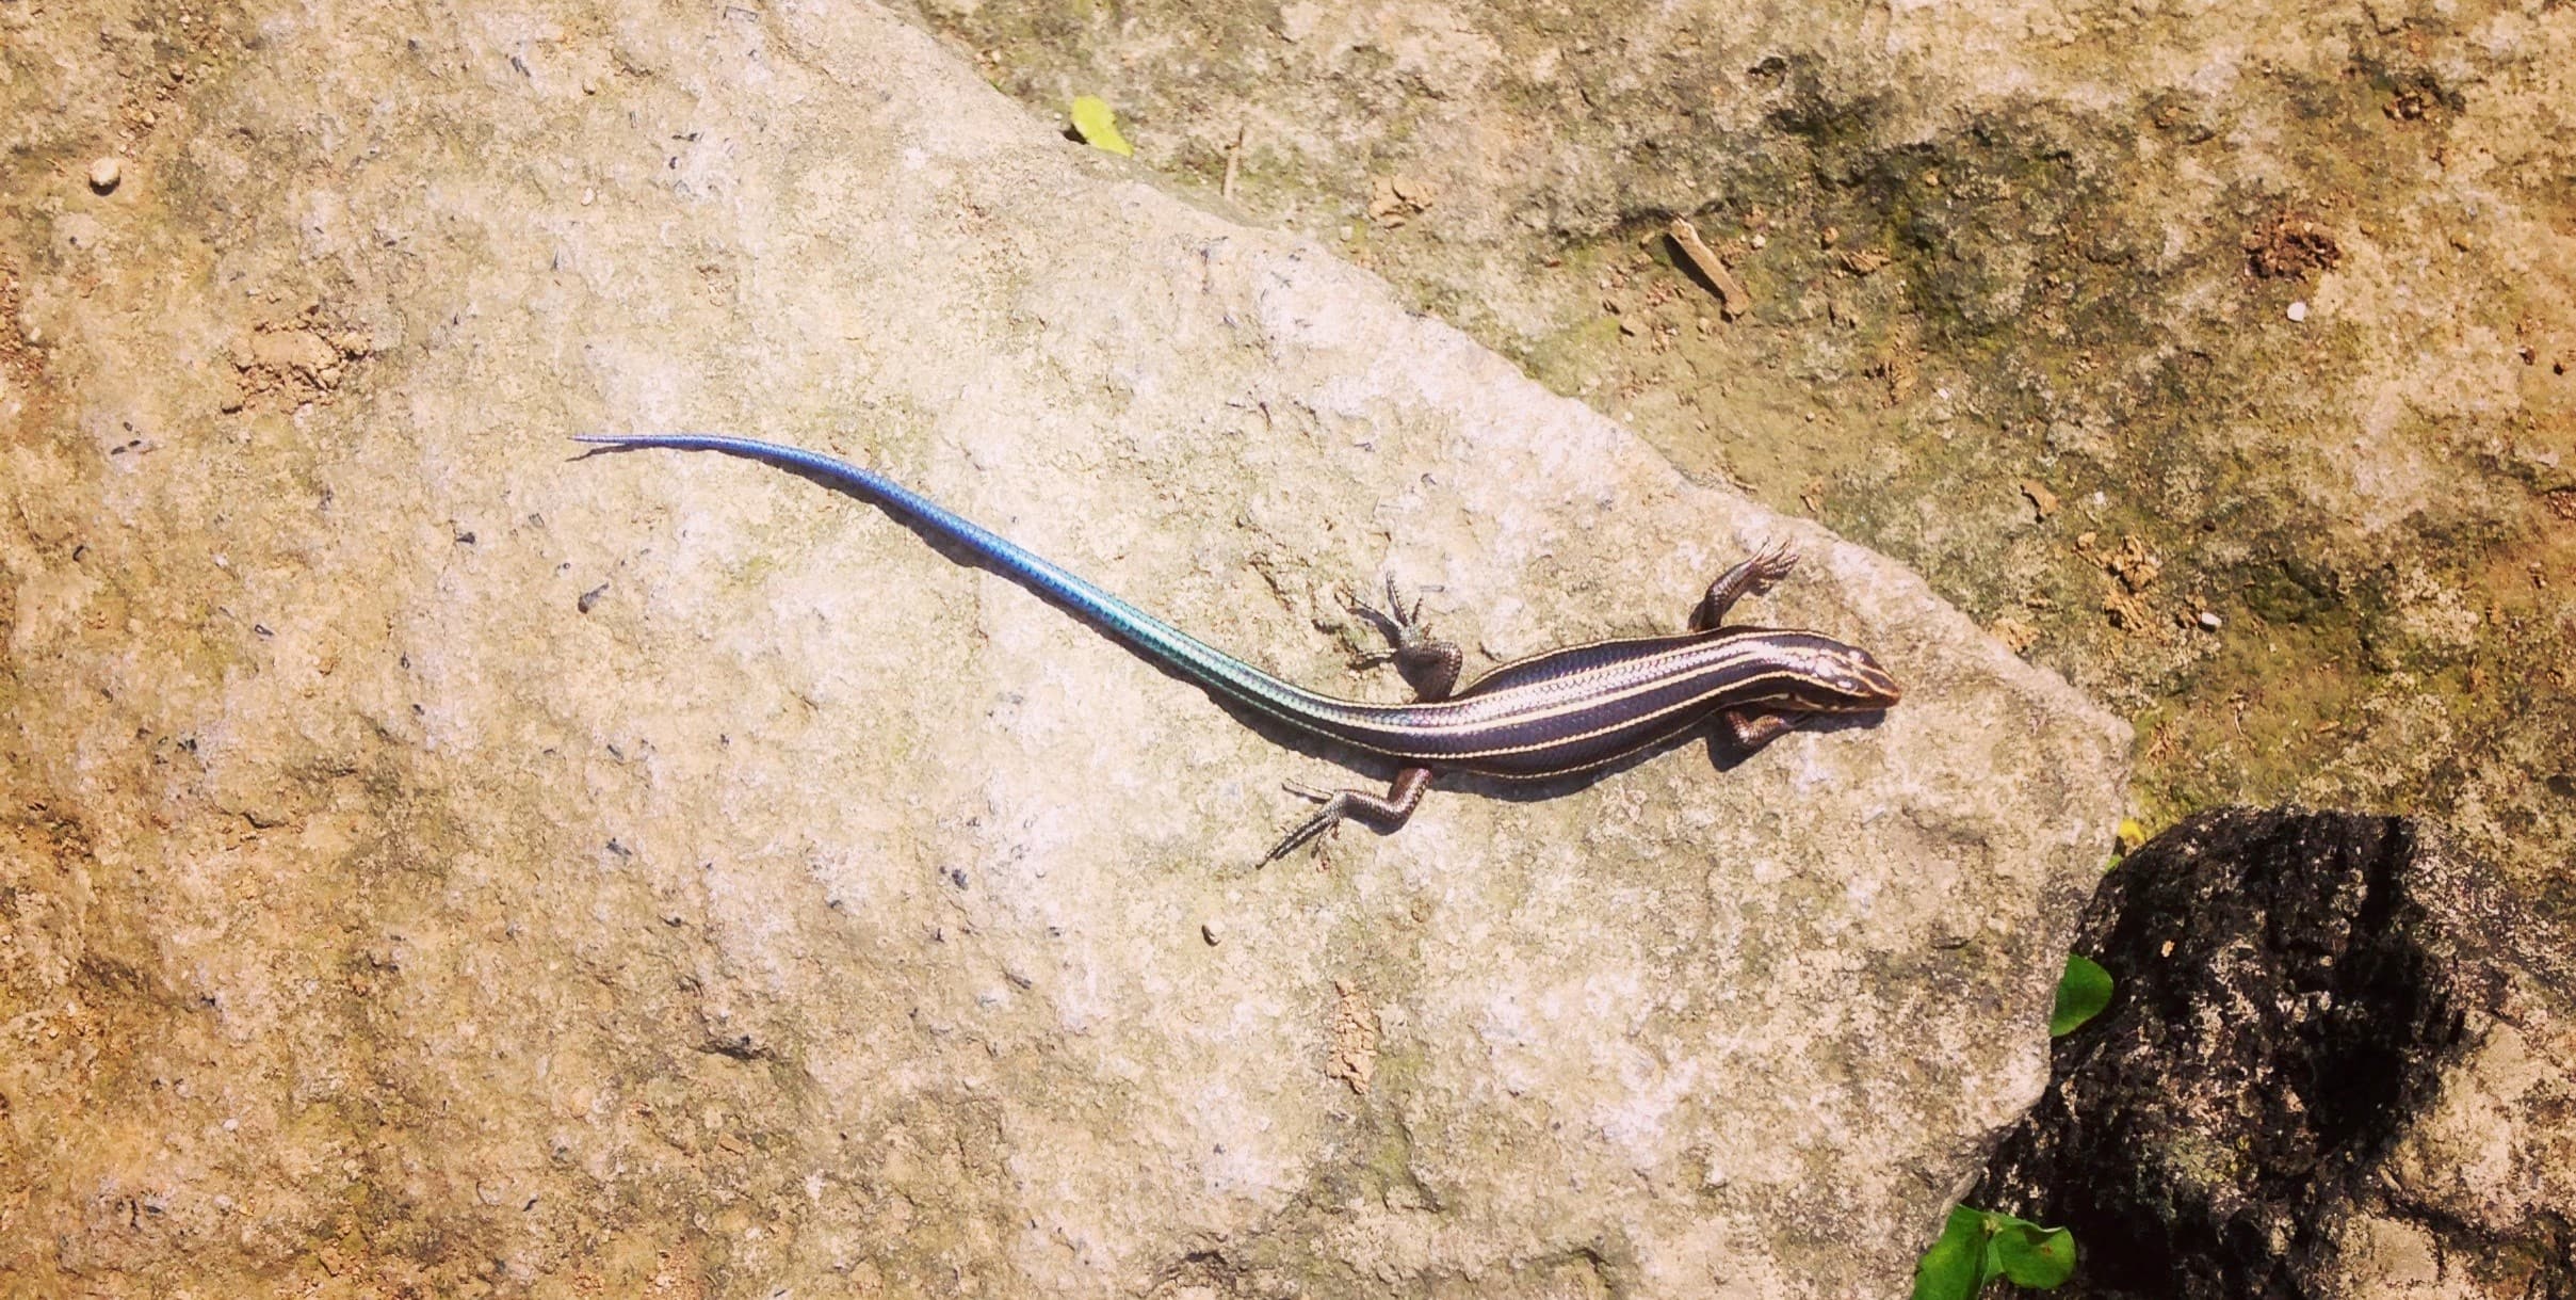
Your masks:
[{"label": "large pale flat rock the lizard is lying on", "polygon": [[[1886,1295],[2040,1088],[2120,722],[884,13],[0,21],[13,1282]],[[1785,539],[1909,696],[1255,872],[1342,756],[598,428],[1337,691]]]}]

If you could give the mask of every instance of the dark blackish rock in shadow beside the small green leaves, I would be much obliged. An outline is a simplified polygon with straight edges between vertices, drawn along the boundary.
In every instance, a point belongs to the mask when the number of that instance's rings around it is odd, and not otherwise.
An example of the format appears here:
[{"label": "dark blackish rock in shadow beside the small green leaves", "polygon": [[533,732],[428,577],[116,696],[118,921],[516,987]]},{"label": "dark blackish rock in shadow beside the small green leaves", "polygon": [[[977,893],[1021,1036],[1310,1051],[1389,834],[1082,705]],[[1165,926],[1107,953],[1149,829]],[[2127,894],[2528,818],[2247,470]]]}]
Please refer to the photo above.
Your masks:
[{"label": "dark blackish rock in shadow beside the small green leaves", "polygon": [[2576,1292],[2576,970],[2491,869],[2396,818],[2210,812],[2076,952],[2112,1006],[1973,1194],[2074,1230],[2061,1295]]}]

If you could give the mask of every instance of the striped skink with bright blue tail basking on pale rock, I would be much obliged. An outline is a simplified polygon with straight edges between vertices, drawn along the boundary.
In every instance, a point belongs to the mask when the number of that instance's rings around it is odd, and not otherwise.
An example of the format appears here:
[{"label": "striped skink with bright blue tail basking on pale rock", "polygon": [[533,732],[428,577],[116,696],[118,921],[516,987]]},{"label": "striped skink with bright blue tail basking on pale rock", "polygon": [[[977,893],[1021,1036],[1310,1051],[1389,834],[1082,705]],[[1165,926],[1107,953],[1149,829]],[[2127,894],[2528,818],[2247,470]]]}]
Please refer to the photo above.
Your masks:
[{"label": "striped skink with bright blue tail basking on pale rock", "polygon": [[1321,807],[1265,862],[1291,854],[1345,818],[1360,818],[1381,831],[1404,825],[1437,771],[1502,779],[1566,776],[1615,763],[1708,720],[1723,722],[1749,753],[1811,714],[1878,712],[1901,694],[1896,678],[1857,645],[1819,632],[1726,627],[1726,611],[1739,598],[1767,591],[1795,565],[1795,555],[1777,547],[1710,583],[1687,632],[1569,645],[1504,663],[1466,686],[1455,686],[1458,647],[1425,637],[1417,624],[1419,604],[1404,609],[1388,586],[1386,611],[1360,604],[1352,609],[1386,632],[1391,650],[1376,660],[1394,663],[1419,699],[1368,704],[1280,681],[873,469],[799,446],[716,433],[590,433],[574,441],[605,449],[729,451],[819,477],[966,547],[994,570],[1092,619],[1139,655],[1211,694],[1260,709],[1301,733],[1396,761],[1399,771],[1386,794],[1291,787]]}]

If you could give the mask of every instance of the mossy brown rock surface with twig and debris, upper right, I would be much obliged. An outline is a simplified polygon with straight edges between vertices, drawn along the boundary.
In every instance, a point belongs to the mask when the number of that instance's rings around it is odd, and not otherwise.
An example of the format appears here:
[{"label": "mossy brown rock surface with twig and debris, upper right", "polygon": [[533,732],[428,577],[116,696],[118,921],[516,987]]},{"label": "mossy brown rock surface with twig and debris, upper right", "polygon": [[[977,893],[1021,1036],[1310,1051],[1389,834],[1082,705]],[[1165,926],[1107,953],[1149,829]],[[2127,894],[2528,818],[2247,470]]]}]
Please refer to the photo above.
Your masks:
[{"label": "mossy brown rock surface with twig and debris, upper right", "polygon": [[1906,560],[2151,825],[2401,810],[2576,913],[2576,5],[909,8]]}]

